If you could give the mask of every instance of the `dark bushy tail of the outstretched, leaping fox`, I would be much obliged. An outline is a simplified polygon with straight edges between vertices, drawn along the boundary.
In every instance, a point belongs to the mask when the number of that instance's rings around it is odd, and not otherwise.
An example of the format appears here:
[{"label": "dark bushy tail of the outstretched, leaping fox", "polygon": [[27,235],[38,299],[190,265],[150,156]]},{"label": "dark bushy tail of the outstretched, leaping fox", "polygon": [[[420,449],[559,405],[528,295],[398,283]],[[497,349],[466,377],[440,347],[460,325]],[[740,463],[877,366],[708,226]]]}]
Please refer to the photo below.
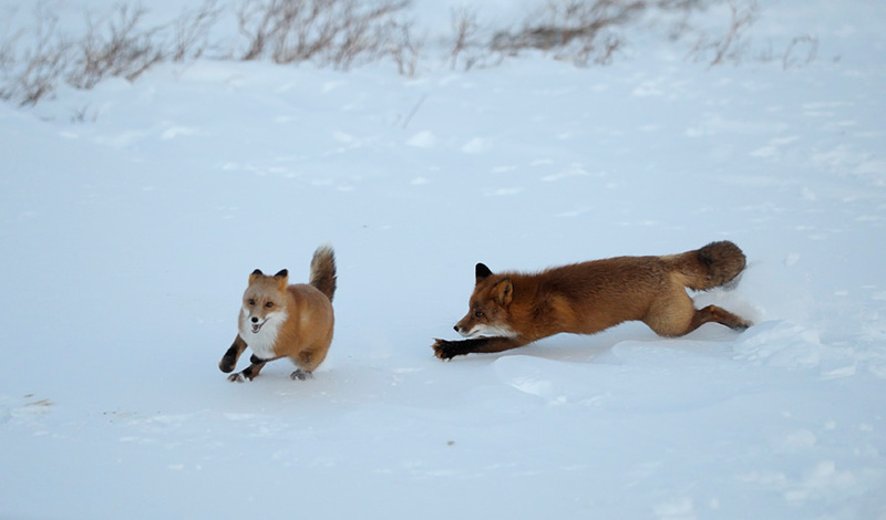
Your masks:
[{"label": "dark bushy tail of the outstretched, leaping fox", "polygon": [[686,275],[688,288],[707,291],[732,281],[744,270],[746,260],[738,246],[723,240],[678,254],[676,263]]}]

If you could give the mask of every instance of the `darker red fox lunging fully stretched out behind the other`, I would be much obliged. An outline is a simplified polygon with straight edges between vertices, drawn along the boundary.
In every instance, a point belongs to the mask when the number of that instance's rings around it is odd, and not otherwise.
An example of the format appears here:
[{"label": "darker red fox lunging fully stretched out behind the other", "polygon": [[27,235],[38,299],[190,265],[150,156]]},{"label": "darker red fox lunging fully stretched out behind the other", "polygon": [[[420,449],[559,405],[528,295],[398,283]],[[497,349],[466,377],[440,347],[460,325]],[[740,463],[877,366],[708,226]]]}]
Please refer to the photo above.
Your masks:
[{"label": "darker red fox lunging fully stretched out behind the other", "polygon": [[729,241],[681,254],[610,258],[537,274],[494,274],[477,263],[470,311],[455,324],[468,339],[436,340],[434,354],[450,360],[502,352],[560,332],[594,334],[632,320],[662,336],[681,336],[708,322],[741,331],[751,323],[717,305],[696,310],[686,288],[722,285],[744,266],[744,253]]}]

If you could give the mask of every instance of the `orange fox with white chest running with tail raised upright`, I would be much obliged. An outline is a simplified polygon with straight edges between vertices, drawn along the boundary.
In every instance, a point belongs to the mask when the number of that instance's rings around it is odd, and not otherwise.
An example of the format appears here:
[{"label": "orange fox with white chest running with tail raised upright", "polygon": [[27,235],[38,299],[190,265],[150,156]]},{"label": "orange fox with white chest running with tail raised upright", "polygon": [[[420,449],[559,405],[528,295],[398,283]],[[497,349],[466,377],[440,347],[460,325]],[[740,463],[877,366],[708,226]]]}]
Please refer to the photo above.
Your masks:
[{"label": "orange fox with white chest running with tail raised upright", "polygon": [[288,281],[286,269],[272,277],[258,269],[249,274],[249,285],[243,294],[239,334],[218,367],[226,374],[231,372],[247,346],[253,350],[251,364],[228,376],[229,381],[253,379],[265,363],[280,357],[289,357],[298,367],[292,372],[293,379],[306,379],[326,358],[336,321],[332,248],[321,246],[315,251],[308,284],[289,285]]}]

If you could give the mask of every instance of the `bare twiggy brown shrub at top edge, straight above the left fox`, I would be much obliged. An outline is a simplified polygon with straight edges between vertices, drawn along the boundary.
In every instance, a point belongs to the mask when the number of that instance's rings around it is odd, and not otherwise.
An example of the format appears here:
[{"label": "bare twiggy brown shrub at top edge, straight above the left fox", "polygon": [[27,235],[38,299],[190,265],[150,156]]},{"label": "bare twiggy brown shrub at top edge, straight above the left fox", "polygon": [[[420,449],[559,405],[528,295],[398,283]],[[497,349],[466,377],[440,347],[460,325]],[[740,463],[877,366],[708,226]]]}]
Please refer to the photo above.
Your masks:
[{"label": "bare twiggy brown shrub at top edge, straight above the left fox", "polygon": [[[247,0],[239,9],[248,49],[243,60],[268,55],[275,63],[312,60],[348,70],[390,49],[395,15],[406,1]],[[402,37],[402,28],[401,30]]]}]

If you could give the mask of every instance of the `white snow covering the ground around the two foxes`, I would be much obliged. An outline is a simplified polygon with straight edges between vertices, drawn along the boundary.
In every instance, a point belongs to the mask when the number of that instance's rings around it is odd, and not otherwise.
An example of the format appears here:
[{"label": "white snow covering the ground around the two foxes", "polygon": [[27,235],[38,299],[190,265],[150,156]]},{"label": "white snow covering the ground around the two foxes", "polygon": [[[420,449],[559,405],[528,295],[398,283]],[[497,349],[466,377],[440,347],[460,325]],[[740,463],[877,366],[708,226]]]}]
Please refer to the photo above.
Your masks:
[{"label": "white snow covering the ground around the two foxes", "polygon": [[[886,518],[884,10],[775,2],[820,38],[789,70],[200,60],[0,105],[0,517]],[[432,355],[476,262],[720,239],[749,268],[697,301],[744,333]],[[316,377],[229,383],[248,274],[327,240]]]}]

